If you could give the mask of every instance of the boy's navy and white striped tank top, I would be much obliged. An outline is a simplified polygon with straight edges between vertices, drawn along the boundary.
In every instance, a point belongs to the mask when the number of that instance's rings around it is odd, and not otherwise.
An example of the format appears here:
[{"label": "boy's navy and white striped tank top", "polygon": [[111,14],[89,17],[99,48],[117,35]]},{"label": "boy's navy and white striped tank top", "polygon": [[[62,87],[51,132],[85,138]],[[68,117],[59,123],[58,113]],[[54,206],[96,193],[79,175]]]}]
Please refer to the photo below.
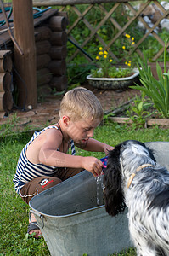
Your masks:
[{"label": "boy's navy and white striped tank top", "polygon": [[[16,173],[14,175],[14,189],[19,194],[20,189],[25,185],[25,183],[30,182],[32,179],[40,176],[50,176],[52,177],[55,172],[57,172],[56,166],[46,166],[43,164],[33,164],[26,157],[26,150],[28,146],[37,138],[43,131],[48,129],[58,129],[57,126],[48,126],[44,128],[42,131],[35,131],[29,143],[25,145],[25,148],[22,149],[20,153],[20,157],[18,160],[18,164],[16,166]],[[75,155],[75,145],[73,140],[70,141],[71,154]],[[59,151],[59,148],[57,149]]]}]

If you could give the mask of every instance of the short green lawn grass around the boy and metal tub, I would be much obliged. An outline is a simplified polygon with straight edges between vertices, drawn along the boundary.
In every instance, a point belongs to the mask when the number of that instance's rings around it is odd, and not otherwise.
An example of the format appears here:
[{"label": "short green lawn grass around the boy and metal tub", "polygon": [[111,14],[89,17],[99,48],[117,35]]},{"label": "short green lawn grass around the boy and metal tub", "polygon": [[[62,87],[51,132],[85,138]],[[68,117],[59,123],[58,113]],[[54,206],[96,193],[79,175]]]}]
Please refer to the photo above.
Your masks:
[{"label": "short green lawn grass around the boy and metal tub", "polygon": [[[127,125],[112,124],[109,126],[99,126],[95,131],[95,138],[104,143],[115,145],[127,139],[137,139],[142,142],[169,141],[169,130],[162,130],[155,126],[150,129],[134,130]],[[14,192],[12,182],[15,167],[21,149],[30,139],[29,135],[14,137],[3,137],[0,144],[0,255],[45,255],[48,256],[46,242],[27,239],[25,237],[29,207]],[[80,149],[77,154],[91,155]],[[94,153],[98,158],[103,157],[102,153]],[[85,253],[85,252],[84,252]],[[115,255],[135,256],[133,249],[127,252],[114,253]],[[103,255],[104,256],[104,255]],[[107,256],[107,255],[105,255]]]}]

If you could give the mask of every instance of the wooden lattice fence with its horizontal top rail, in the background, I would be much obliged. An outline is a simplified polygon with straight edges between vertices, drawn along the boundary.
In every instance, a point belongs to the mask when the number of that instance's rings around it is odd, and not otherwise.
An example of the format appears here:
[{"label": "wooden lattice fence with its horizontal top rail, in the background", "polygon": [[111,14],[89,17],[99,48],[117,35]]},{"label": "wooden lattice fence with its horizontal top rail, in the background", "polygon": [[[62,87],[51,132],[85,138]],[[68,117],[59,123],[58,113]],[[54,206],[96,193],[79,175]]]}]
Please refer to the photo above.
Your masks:
[{"label": "wooden lattice fence with its horizontal top rail, in the background", "polygon": [[[136,6],[138,6],[137,1],[125,0],[33,0],[33,5],[54,5],[59,8],[59,11],[66,11],[68,13],[70,23],[67,34],[70,42],[76,45],[75,51],[73,55],[70,56],[69,61],[75,59],[79,53],[87,52],[89,42],[96,42],[97,45],[100,44],[104,46],[104,49],[109,49],[110,55],[116,61],[120,61],[118,55],[116,55],[115,47],[120,44],[118,42],[120,42],[121,38],[127,32],[132,31],[133,37],[134,34],[138,34],[138,23],[144,26],[144,36],[141,38],[138,37],[138,42],[135,42],[129,55],[132,55],[133,52],[137,52],[138,55],[143,56],[144,45],[148,44],[149,38],[152,37],[156,40],[156,44],[158,44],[158,50],[155,52],[153,49],[155,54],[151,57],[151,60],[158,61],[159,57],[163,54],[165,39],[161,38],[161,33],[158,33],[157,29],[159,31],[161,30],[161,20],[169,18],[169,9],[164,9],[159,1],[143,1],[143,3],[139,5],[139,8],[136,8]],[[93,10],[99,10],[99,17],[97,17],[97,19],[93,17],[91,22],[91,19],[88,20],[88,16]],[[76,16],[76,20],[71,19],[72,15]],[[151,26],[149,26],[149,22],[144,19],[145,16],[149,18],[147,20],[150,20]],[[81,31],[85,31],[87,28],[87,35],[80,32],[81,37],[76,38],[74,30],[77,26],[81,27]],[[84,29],[82,29],[82,26]],[[107,39],[107,37],[104,37],[106,29],[103,30],[103,27],[109,28],[107,32],[112,35],[107,41],[104,39]],[[169,43],[167,43],[167,48],[168,46]],[[88,54],[90,56],[93,53],[90,52]],[[88,61],[92,61],[92,58],[88,57],[87,54],[84,54],[84,56]]]}]

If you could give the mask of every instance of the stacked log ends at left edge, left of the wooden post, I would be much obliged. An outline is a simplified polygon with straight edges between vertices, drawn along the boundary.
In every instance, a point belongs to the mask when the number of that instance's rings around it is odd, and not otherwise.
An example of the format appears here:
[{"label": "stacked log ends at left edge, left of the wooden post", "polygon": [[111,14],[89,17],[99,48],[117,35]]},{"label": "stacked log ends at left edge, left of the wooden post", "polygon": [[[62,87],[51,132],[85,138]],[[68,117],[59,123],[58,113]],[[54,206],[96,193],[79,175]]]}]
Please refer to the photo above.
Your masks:
[{"label": "stacked log ends at left edge, left of the wooden post", "polygon": [[0,50],[0,118],[13,108],[11,90],[12,51]]}]

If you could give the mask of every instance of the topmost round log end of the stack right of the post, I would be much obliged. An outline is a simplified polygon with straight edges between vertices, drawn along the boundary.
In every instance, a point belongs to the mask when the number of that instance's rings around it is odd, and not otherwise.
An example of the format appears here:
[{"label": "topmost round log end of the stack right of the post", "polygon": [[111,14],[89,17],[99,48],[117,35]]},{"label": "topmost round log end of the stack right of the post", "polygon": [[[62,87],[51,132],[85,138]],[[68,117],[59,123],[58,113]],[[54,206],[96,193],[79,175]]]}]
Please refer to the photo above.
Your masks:
[{"label": "topmost round log end of the stack right of the post", "polygon": [[65,16],[52,16],[49,20],[49,27],[52,31],[65,31],[66,24]]}]

